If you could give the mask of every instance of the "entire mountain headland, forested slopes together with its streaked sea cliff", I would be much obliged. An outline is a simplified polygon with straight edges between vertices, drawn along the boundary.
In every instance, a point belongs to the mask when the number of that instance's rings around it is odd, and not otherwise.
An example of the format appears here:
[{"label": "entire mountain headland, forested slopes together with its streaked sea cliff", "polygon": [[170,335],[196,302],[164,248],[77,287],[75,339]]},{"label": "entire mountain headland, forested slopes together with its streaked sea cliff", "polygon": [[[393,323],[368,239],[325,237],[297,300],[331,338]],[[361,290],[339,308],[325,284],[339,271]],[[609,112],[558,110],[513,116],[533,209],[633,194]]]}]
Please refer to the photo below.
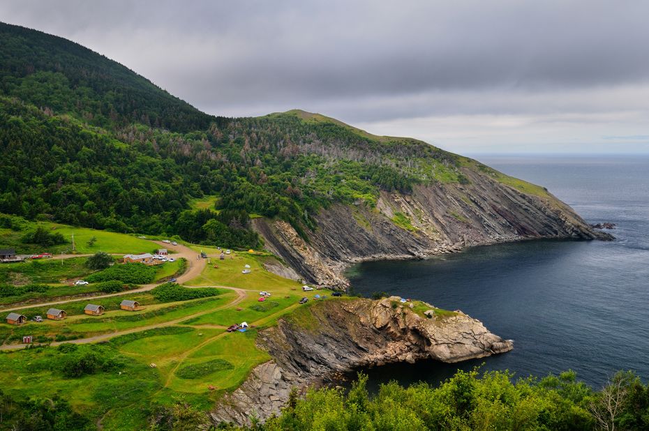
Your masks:
[{"label": "entire mountain headland, forested slopes together with its streaked sea cliff", "polygon": [[0,42],[0,212],[241,248],[254,230],[327,285],[363,259],[601,236],[544,188],[417,139],[300,110],[209,116],[67,40],[0,24]]}]

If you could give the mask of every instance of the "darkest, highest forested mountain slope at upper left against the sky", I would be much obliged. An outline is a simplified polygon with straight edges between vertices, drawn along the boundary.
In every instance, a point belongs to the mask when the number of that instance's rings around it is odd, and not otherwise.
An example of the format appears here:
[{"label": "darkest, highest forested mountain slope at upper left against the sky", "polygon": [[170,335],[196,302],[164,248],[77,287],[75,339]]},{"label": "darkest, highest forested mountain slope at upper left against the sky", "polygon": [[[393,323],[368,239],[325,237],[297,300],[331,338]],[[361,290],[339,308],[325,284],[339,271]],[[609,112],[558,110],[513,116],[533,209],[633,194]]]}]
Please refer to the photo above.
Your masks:
[{"label": "darkest, highest forested mountain slope at upper left against the sky", "polygon": [[74,112],[94,126],[137,122],[186,132],[214,121],[105,56],[1,22],[0,91],[56,114]]}]

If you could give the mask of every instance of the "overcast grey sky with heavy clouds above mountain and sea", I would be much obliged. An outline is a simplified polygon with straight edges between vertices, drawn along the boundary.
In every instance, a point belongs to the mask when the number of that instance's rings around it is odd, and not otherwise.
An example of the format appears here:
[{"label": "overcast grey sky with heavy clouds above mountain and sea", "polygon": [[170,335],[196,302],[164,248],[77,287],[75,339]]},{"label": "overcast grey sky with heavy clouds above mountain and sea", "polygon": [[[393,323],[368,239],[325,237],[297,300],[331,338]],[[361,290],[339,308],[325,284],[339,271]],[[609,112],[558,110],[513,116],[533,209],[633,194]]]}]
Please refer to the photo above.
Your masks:
[{"label": "overcast grey sky with heavy clouds above mountain and sea", "polygon": [[6,1],[211,114],[458,153],[649,153],[649,1]]}]

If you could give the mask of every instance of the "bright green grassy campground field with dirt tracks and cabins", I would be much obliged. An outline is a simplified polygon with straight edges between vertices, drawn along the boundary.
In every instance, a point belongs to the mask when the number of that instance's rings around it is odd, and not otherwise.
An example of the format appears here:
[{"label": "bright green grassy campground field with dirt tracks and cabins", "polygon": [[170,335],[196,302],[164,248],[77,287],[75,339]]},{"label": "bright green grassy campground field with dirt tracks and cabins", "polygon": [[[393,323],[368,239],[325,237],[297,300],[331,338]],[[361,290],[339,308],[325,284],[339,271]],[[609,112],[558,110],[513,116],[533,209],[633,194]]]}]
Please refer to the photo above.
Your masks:
[{"label": "bright green grassy campground field with dirt tracks and cabins", "polygon": [[[54,230],[70,236],[74,230],[77,250],[84,253],[99,249],[112,253],[150,252],[156,248],[154,243],[130,235],[60,225]],[[89,248],[87,241],[91,236],[96,236],[97,241]],[[157,301],[150,292],[120,292],[106,298],[74,297],[96,294],[91,284],[58,285],[47,292],[0,298],[0,308],[27,301],[32,306],[20,312],[29,318],[45,317],[50,307],[38,303],[59,296],[72,298],[68,303],[56,305],[68,313],[64,320],[27,322],[22,326],[0,324],[0,345],[19,343],[24,335],[32,335],[36,342],[109,335],[103,344],[79,345],[77,349],[96,351],[101,357],[114,358],[119,365],[69,378],[59,364],[74,356],[76,350],[66,353],[57,347],[37,347],[1,352],[0,385],[6,388],[5,392],[22,398],[58,393],[75,411],[99,421],[104,430],[145,429],[148,409],[154,404],[170,406],[182,399],[200,409],[210,409],[223,393],[237,388],[256,365],[270,359],[266,351],[256,346],[260,329],[276,324],[279,318],[294,310],[308,308],[308,305],[298,305],[299,298],[307,296],[313,301],[316,294],[329,294],[302,292],[301,283],[269,273],[263,263],[274,257],[268,254],[232,252],[221,261],[216,248],[193,246],[193,249],[207,252],[210,261],[200,276],[185,284],[222,286],[218,287],[218,296],[167,303]],[[84,266],[85,260],[85,257],[75,257],[0,266],[0,282],[54,284],[82,278],[90,273]],[[250,266],[249,274],[241,273],[246,265]],[[171,277],[179,266],[177,261],[156,267],[156,280]],[[264,302],[258,301],[262,290],[271,292],[271,297]],[[142,309],[120,310],[119,303],[124,298],[139,301]],[[105,314],[85,315],[83,308],[88,303],[103,305]],[[0,317],[3,314],[0,311]],[[225,332],[230,324],[244,321],[253,326],[247,332]],[[122,331],[134,332],[119,335]]]}]

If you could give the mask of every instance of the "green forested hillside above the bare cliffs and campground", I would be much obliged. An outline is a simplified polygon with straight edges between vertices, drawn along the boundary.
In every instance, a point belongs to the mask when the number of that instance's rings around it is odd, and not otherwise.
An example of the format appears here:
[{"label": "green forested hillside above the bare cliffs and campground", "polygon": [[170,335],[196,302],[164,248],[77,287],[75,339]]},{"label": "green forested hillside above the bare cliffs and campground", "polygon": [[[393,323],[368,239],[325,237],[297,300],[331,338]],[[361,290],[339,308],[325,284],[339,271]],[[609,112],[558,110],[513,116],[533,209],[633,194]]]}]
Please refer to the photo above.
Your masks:
[{"label": "green forested hillside above the bare cliffs and campground", "polygon": [[[373,206],[380,190],[467,181],[458,156],[424,142],[301,111],[209,116],[80,45],[8,24],[0,156],[0,212],[241,246],[258,240],[232,211],[306,237],[333,202]],[[205,195],[216,207],[192,211]]]}]

